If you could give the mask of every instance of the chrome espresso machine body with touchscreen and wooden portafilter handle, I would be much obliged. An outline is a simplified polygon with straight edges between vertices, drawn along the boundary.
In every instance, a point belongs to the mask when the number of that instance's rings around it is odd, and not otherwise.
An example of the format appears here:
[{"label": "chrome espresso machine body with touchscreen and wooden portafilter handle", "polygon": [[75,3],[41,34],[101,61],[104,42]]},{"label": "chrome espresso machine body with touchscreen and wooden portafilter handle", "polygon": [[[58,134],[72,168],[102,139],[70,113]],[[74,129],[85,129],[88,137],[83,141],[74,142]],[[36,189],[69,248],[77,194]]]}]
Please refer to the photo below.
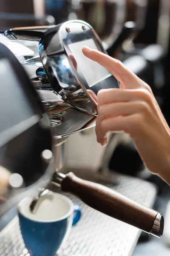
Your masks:
[{"label": "chrome espresso machine body with touchscreen and wooden portafilter handle", "polygon": [[[37,183],[40,192],[52,180],[62,192],[76,195],[88,206],[161,237],[164,220],[159,212],[113,189],[82,180],[72,173],[60,173],[62,166],[57,167],[56,146],[64,143],[69,134],[95,125],[97,111],[93,96],[102,88],[119,88],[119,82],[108,70],[82,54],[83,45],[105,52],[94,29],[81,20],[72,20],[51,27],[10,29],[1,36],[0,40],[11,49],[28,73],[51,123],[54,148],[51,146],[51,156],[49,150],[41,157],[50,170],[54,168],[54,175],[50,171],[47,180]],[[29,193],[28,189],[29,186],[26,193],[20,193],[22,188],[14,191],[22,198]],[[37,187],[33,194],[35,189]],[[7,203],[9,206],[9,202],[7,198],[2,206]]]}]

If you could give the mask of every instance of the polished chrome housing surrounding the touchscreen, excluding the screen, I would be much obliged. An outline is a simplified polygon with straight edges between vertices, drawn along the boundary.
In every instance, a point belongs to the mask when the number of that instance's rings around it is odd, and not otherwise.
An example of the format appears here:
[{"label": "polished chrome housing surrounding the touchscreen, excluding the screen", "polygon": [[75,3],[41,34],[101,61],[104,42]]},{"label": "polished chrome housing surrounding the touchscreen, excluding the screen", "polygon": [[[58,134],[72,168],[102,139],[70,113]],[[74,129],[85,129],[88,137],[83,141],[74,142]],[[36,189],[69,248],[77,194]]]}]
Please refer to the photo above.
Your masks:
[{"label": "polished chrome housing surrounding the touchscreen, excluding the screen", "polygon": [[[85,30],[82,26],[85,26]],[[67,28],[70,33],[66,32]],[[85,78],[74,67],[71,52],[68,51],[72,38],[77,38],[77,42],[92,39],[97,48],[105,52],[94,29],[84,21],[72,20],[50,28],[15,28],[6,31],[5,35],[13,44],[19,43],[25,47],[22,64],[47,109],[53,136],[61,138],[94,127],[96,106],[88,95],[89,87]],[[28,54],[26,49],[31,52]],[[113,76],[103,81],[90,87],[90,90],[97,93],[102,88],[119,87]]]}]

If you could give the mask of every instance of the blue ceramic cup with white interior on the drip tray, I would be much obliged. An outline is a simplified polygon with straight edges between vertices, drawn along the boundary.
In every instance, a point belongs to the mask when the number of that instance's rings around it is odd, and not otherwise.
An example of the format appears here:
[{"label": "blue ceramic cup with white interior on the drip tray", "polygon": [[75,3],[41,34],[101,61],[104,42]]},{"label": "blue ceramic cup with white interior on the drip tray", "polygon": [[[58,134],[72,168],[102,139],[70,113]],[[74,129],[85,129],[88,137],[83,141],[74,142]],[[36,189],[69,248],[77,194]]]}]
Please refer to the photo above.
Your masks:
[{"label": "blue ceramic cup with white interior on the drip tray", "polygon": [[[25,209],[27,209],[27,211],[29,210],[28,204],[30,203],[30,198],[23,199],[18,207],[20,230],[30,256],[57,256],[57,251],[69,236],[71,226],[77,224],[81,217],[81,208],[77,204],[73,204],[73,202],[64,195],[54,192],[50,193],[48,195],[48,202],[53,203],[52,199],[55,196],[59,197],[60,201],[64,200],[64,205],[67,206],[65,208],[67,212],[68,209],[70,209],[67,215],[57,219],[53,217],[54,220],[51,221],[32,219],[29,215],[27,217],[24,212]],[[58,207],[57,203],[55,205]],[[55,206],[51,206],[51,211],[53,207]]]}]

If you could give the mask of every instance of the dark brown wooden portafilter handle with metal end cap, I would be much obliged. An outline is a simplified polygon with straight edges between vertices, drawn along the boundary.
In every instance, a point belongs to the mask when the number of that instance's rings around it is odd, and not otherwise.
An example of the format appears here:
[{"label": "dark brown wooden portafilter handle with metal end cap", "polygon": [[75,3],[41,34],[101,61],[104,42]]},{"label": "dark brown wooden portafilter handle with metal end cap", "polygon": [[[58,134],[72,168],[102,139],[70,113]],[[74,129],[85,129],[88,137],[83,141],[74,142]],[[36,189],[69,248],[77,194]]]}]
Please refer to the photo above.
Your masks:
[{"label": "dark brown wooden portafilter handle with metal end cap", "polygon": [[63,192],[76,195],[88,206],[123,221],[146,233],[161,237],[164,217],[106,186],[83,180],[73,173],[55,173],[54,182],[60,184]]}]

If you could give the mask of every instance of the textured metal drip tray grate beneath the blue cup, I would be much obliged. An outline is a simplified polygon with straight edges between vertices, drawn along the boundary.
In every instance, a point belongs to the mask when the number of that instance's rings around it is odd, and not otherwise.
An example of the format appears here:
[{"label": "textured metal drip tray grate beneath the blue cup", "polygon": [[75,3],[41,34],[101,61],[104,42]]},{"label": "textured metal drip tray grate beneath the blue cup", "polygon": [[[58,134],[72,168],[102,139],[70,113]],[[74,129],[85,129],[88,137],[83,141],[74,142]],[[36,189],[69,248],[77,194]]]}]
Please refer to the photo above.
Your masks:
[{"label": "textured metal drip tray grate beneath the blue cup", "polygon": [[[115,189],[147,207],[152,207],[156,198],[155,186],[140,179],[114,173],[109,178],[100,175],[98,179],[97,174],[92,172],[74,170],[74,173],[86,180]],[[55,191],[59,192],[59,189],[55,187]],[[82,207],[82,219],[72,227],[68,241],[59,249],[57,256],[131,255],[140,230],[86,206],[72,195],[67,195]],[[23,244],[17,216],[0,233],[0,256],[29,256]]]}]

